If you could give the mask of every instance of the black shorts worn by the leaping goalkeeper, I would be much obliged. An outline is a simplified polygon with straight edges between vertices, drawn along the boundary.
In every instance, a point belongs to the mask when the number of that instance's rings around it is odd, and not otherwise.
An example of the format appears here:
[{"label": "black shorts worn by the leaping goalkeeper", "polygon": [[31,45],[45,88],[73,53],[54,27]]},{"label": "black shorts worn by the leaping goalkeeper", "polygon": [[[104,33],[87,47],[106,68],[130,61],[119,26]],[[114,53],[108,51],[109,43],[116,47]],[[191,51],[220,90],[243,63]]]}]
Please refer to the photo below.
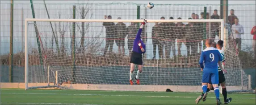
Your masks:
[{"label": "black shorts worn by the leaping goalkeeper", "polygon": [[142,54],[139,54],[138,52],[131,52],[130,63],[143,65]]}]

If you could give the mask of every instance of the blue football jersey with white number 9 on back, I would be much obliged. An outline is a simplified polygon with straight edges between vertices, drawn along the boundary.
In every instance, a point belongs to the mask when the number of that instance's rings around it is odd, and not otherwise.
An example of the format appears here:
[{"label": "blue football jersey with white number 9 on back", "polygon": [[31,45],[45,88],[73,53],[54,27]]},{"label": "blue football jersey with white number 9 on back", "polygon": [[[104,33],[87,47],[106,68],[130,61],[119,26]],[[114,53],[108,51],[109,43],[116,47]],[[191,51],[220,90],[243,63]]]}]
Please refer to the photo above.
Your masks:
[{"label": "blue football jersey with white number 9 on back", "polygon": [[218,73],[218,61],[222,61],[218,49],[209,47],[201,52],[199,64],[203,68],[203,72]]}]

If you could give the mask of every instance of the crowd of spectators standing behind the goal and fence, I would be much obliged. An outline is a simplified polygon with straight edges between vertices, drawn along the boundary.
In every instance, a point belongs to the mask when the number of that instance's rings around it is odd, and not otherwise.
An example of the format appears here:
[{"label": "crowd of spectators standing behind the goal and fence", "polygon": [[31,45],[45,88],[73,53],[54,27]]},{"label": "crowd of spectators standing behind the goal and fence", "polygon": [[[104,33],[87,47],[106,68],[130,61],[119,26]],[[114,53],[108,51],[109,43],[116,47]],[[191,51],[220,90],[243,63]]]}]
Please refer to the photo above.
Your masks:
[{"label": "crowd of spectators standing behind the goal and fence", "polygon": [[[238,45],[238,48],[241,49],[241,36],[243,35],[243,26],[239,24],[239,19],[234,14],[234,10],[230,10],[230,15],[228,16],[228,24],[231,26],[231,39],[235,40],[235,43]],[[192,13],[191,17],[189,19],[195,20],[195,19],[221,19],[218,15],[218,10],[214,10],[214,13],[210,16],[210,14],[206,13],[206,18],[204,18],[204,12],[201,12],[201,18],[199,18],[199,15]],[[111,16],[105,16],[105,19],[112,19]],[[118,17],[118,19],[121,19]],[[160,17],[161,20],[165,20],[165,17]],[[174,19],[173,17],[169,17],[169,19]],[[178,17],[177,19],[181,19]],[[107,52],[108,47],[110,46],[110,49],[113,48],[114,40],[116,40],[116,43],[118,45],[118,52],[121,54],[124,54],[124,45],[125,45],[125,37],[128,35],[128,49],[129,49],[129,55],[132,50],[132,44],[133,40],[137,33],[137,27],[136,23],[131,22],[130,26],[126,28],[126,24],[119,22],[118,24],[104,22],[103,26],[106,28],[106,46],[104,50],[104,55]],[[142,35],[145,34],[145,28],[143,29]],[[254,30],[254,31],[253,31]],[[253,33],[254,32],[254,33]],[[254,41],[255,41],[255,27],[252,29],[252,35],[254,35]],[[187,54],[188,56],[191,54],[197,54],[198,51],[198,44],[199,44],[199,52],[201,52],[201,41],[203,40],[204,36],[206,35],[206,38],[215,39],[215,36],[219,36],[220,34],[220,23],[218,22],[207,22],[204,23],[188,23],[184,24],[182,22],[178,23],[155,23],[155,25],[152,27],[152,44],[153,44],[153,54],[155,58],[156,55],[156,45],[158,45],[159,48],[159,57],[164,57],[165,52],[165,58],[170,57],[170,51],[172,49],[172,53],[175,55],[175,43],[177,42],[178,47],[178,55],[181,55],[181,45],[184,43],[187,47]],[[114,37],[115,36],[115,37]],[[147,36],[147,35],[146,35]],[[112,40],[111,40],[112,39]],[[144,40],[146,42],[146,40]],[[255,42],[254,42],[255,43]],[[190,48],[191,47],[191,48]],[[164,51],[165,49],[165,51]],[[255,50],[255,47],[254,47]],[[192,53],[190,53],[192,52]],[[194,55],[192,55],[194,56]]]}]

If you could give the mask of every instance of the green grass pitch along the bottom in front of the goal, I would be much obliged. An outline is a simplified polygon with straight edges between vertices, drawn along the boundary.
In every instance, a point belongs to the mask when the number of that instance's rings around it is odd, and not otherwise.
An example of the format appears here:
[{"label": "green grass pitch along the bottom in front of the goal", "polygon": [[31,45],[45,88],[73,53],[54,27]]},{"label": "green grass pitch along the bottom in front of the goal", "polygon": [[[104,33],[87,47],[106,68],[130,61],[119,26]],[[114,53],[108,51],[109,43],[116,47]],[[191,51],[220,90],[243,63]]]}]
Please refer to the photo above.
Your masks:
[{"label": "green grass pitch along the bottom in front of the goal", "polygon": [[[200,93],[126,92],[88,90],[1,89],[1,104],[107,104],[107,105],[195,105]],[[223,102],[222,94],[221,101]],[[255,94],[228,94],[229,105],[256,105]],[[214,93],[209,93],[199,105],[216,105]]]}]

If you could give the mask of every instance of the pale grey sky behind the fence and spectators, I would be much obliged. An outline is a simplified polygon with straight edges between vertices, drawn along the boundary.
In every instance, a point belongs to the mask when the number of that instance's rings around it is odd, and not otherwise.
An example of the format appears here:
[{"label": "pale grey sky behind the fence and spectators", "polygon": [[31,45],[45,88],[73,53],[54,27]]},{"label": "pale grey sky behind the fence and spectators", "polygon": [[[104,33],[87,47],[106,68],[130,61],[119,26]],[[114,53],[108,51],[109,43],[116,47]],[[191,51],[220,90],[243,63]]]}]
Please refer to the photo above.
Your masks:
[{"label": "pale grey sky behind the fence and spectators", "polygon": [[[184,8],[184,6],[157,6],[157,4],[213,4],[213,6],[211,6],[211,10],[213,11],[213,9],[218,9],[219,10],[219,6],[217,4],[220,4],[220,0],[200,0],[200,1],[196,1],[196,0],[192,0],[192,1],[184,1],[184,0],[90,0],[89,3],[94,3],[94,4],[109,4],[109,3],[124,3],[124,4],[147,4],[148,2],[152,2],[155,4],[155,7],[151,10],[147,10],[147,14],[145,14],[145,12],[141,12],[141,18],[148,18],[148,19],[159,19],[161,16],[174,16],[174,18],[178,18],[181,17],[182,19],[187,19],[190,17],[192,12],[195,12],[196,14],[200,14],[200,12],[202,12],[203,10],[203,6],[189,6],[189,5],[185,5],[186,8]],[[9,0],[1,0],[0,4],[1,4],[1,45],[0,45],[0,53],[1,54],[5,54],[8,53],[9,50],[9,24],[10,24],[10,20],[9,20],[9,13],[10,13],[10,6],[9,4],[10,1]],[[35,14],[36,14],[36,18],[48,18],[46,15],[46,11],[43,4],[42,0],[33,0],[34,8],[35,8]],[[63,5],[58,5],[59,3],[62,3]],[[67,18],[71,18],[71,9],[69,7],[72,6],[72,4],[82,4],[82,3],[87,3],[86,0],[46,0],[46,4],[47,8],[50,11],[50,16],[51,18],[57,18],[58,17],[58,13],[61,12],[63,15],[63,19],[67,19]],[[38,5],[36,5],[38,4]],[[41,5],[39,5],[41,4]],[[214,5],[215,4],[215,5]],[[229,4],[256,4],[256,1],[254,0],[229,0]],[[122,16],[122,19],[136,19],[136,5],[132,5],[132,7],[129,7],[129,5],[117,5],[116,7],[111,7],[112,5],[103,5],[103,6],[98,6],[95,5],[95,10],[97,12],[95,12],[93,14],[92,19],[103,19],[103,16],[106,14],[111,14],[113,19],[116,19],[118,16]],[[209,6],[209,5],[208,5]],[[166,7],[166,8],[165,8]],[[23,44],[21,44],[21,28],[22,28],[22,24],[21,24],[21,8],[24,8],[24,16],[25,18],[32,18],[31,15],[31,7],[30,7],[30,1],[29,0],[14,0],[14,36],[16,38],[14,38],[14,52],[18,52],[21,50],[21,47],[17,47],[17,46],[22,46]],[[135,10],[134,10],[135,8]],[[171,8],[169,10],[169,8]],[[242,41],[242,44],[245,45],[252,45],[252,36],[249,34],[252,26],[255,26],[255,5],[254,6],[239,6],[239,5],[231,5],[229,6],[229,9],[235,9],[235,15],[237,15],[240,19],[240,24],[243,24],[244,26],[244,30],[246,32],[246,34],[242,37],[242,39],[249,39],[246,41]],[[108,11],[108,9],[110,10],[114,10],[114,12]],[[54,10],[54,11],[53,11]],[[133,14],[130,16],[127,16],[127,10],[130,10],[129,13]],[[157,12],[155,12],[157,11]],[[212,11],[209,10],[209,8],[207,8],[207,12],[211,12]],[[58,13],[57,13],[58,12]],[[180,13],[182,12],[182,13]],[[134,15],[135,14],[135,15]],[[218,13],[220,14],[220,13]],[[229,13],[228,13],[229,14]],[[78,17],[79,18],[79,17]],[[38,25],[40,23],[38,22]],[[129,26],[130,23],[125,23],[126,26]],[[96,24],[98,26],[101,26],[101,24]],[[154,23],[149,23],[148,26],[149,28],[147,29],[148,32],[148,37],[151,37],[151,27],[154,25]],[[7,27],[4,27],[7,26]],[[32,25],[30,26],[32,27]],[[49,28],[49,30],[48,30]],[[40,29],[41,31],[47,31],[50,33],[50,27],[48,27],[46,30],[45,29]],[[105,31],[102,26],[101,29],[103,29],[103,31]],[[33,31],[33,28],[31,28],[30,31]],[[32,33],[32,32],[31,32]],[[104,36],[104,35],[103,35]],[[127,40],[126,40],[127,41]],[[151,48],[152,46],[151,44],[151,39],[149,39],[149,41],[147,41],[147,44],[149,44]],[[103,47],[105,46],[104,44],[102,45]],[[184,47],[185,45],[183,44],[183,49],[185,49]],[[117,46],[114,45],[114,47],[116,48]],[[127,44],[126,44],[127,47]],[[126,52],[128,52],[126,50]],[[150,57],[152,56],[152,52],[150,52]]]}]

